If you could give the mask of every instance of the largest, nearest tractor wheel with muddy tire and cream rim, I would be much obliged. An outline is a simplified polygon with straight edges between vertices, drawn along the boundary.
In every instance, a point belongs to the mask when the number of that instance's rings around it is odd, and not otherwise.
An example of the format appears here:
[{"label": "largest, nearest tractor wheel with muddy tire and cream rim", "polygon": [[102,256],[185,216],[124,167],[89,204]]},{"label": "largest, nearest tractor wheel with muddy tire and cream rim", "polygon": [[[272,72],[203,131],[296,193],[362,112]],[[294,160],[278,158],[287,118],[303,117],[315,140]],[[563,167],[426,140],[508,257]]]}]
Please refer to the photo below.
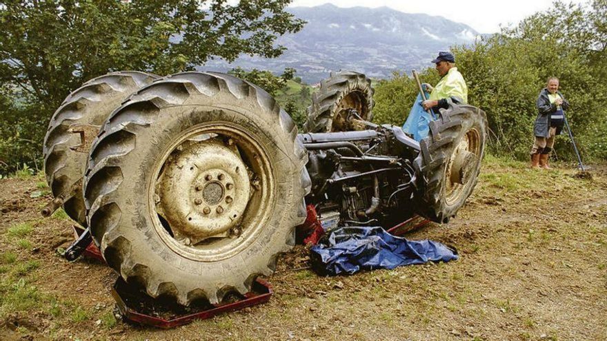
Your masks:
[{"label": "largest, nearest tractor wheel with muddy tire and cream rim", "polygon": [[294,245],[309,192],[297,127],[261,88],[184,72],[139,90],[92,146],[85,203],[103,258],[152,297],[221,302]]}]

